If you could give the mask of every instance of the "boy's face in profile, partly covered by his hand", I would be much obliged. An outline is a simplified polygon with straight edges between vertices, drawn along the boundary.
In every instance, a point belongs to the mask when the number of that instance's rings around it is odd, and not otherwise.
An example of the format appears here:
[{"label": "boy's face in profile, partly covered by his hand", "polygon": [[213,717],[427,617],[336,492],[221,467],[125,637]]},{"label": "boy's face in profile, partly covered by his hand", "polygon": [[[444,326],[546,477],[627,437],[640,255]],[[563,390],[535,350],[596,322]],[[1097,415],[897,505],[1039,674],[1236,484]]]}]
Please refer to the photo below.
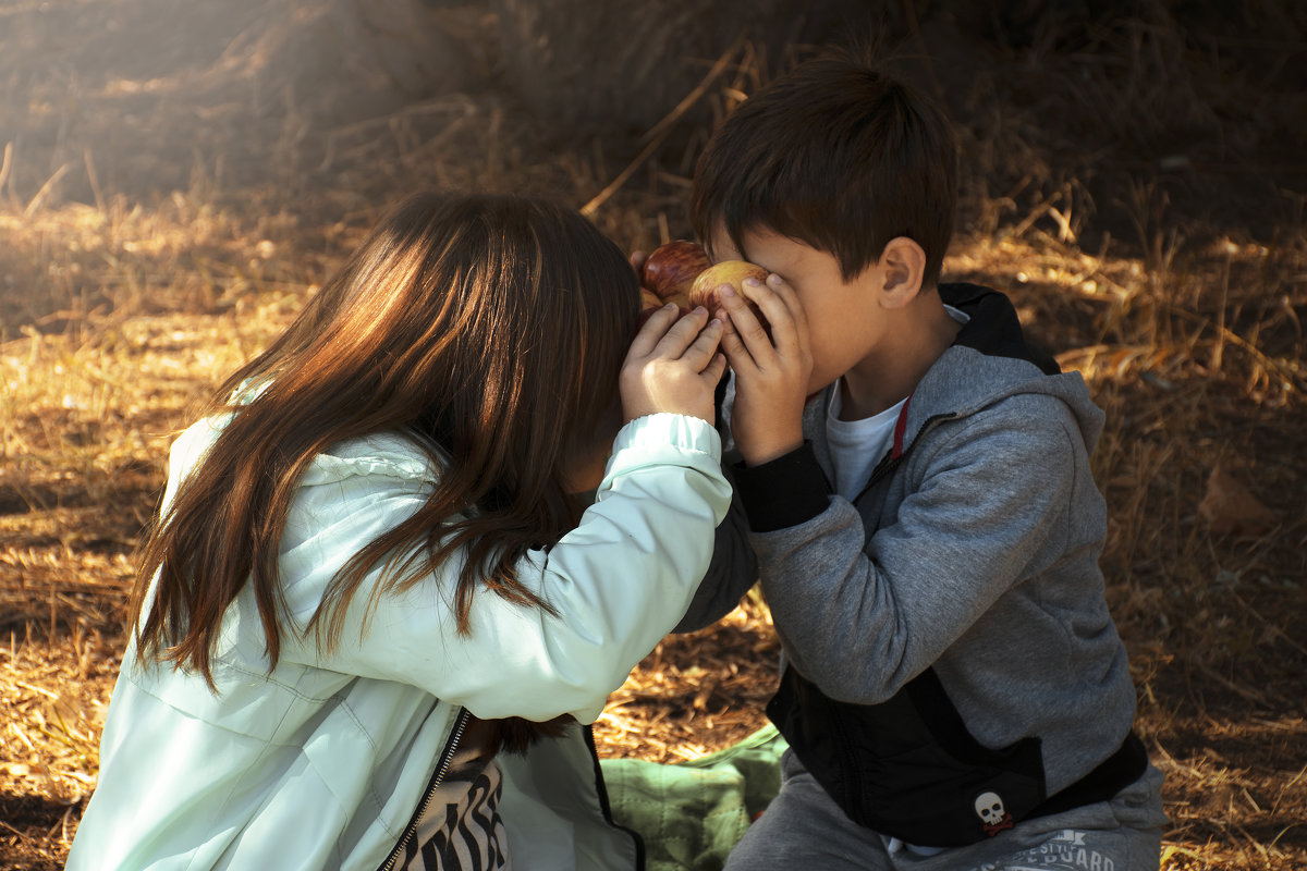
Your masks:
[{"label": "boy's face in profile, partly covered by his hand", "polygon": [[772,230],[744,234],[745,251],[718,226],[710,243],[714,261],[749,260],[789,283],[808,315],[813,356],[808,393],[816,393],[855,368],[876,350],[885,329],[878,316],[880,264],[844,279],[834,255]]}]

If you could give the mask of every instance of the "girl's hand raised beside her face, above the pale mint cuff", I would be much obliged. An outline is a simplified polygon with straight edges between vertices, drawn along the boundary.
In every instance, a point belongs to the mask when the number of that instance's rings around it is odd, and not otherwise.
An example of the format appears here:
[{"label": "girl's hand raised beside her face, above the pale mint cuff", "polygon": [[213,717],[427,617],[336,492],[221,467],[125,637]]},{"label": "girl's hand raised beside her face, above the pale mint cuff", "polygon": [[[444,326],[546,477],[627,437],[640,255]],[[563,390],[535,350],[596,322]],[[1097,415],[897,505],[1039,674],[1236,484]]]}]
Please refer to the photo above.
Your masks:
[{"label": "girl's hand raised beside her face, above the pale mint cuff", "polygon": [[631,342],[618,385],[626,420],[669,411],[715,423],[714,396],[727,370],[718,351],[724,326],[695,308],[677,317],[674,304],[654,312]]}]

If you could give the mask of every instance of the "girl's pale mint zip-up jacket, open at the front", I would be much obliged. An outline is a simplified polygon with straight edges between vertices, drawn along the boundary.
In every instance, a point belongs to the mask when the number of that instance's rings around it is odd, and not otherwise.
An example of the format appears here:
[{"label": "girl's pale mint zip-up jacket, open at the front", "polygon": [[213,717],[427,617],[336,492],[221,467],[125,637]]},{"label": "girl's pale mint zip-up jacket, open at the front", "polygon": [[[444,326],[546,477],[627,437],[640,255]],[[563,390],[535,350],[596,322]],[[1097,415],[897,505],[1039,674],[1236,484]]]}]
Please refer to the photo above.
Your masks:
[{"label": "girl's pale mint zip-up jacket, open at the front", "polygon": [[[165,511],[223,418],[173,445]],[[68,868],[376,868],[404,834],[460,708],[481,718],[592,722],[605,697],[685,614],[731,501],[720,440],[695,418],[657,414],[622,428],[595,504],[519,578],[557,616],[480,592],[472,632],[455,632],[457,567],[382,598],[363,624],[354,597],[336,650],[282,632],[269,674],[251,589],[229,609],[204,679],[136,666],[128,648],[101,743],[99,786]],[[438,467],[412,441],[379,435],[314,460],[288,516],[280,571],[301,626],[362,546],[417,509]],[[501,755],[501,812],[515,868],[610,867],[610,833],[546,791],[592,760],[571,738],[523,760]],[[630,857],[629,838],[616,849]]]}]

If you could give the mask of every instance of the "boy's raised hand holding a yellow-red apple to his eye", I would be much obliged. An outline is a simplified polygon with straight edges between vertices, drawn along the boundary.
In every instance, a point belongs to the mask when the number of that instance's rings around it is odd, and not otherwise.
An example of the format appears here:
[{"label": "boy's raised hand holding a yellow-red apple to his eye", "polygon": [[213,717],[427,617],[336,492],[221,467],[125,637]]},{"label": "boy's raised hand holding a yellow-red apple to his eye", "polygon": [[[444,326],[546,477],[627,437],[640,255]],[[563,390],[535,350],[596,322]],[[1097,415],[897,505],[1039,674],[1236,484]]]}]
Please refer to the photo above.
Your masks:
[{"label": "boy's raised hand holding a yellow-red apple to his eye", "polygon": [[719,290],[727,323],[721,350],[736,376],[731,434],[750,466],[782,457],[804,443],[804,402],[813,358],[808,316],[793,289],[772,273],[745,279],[745,294],[771,325],[771,337],[733,287]]}]

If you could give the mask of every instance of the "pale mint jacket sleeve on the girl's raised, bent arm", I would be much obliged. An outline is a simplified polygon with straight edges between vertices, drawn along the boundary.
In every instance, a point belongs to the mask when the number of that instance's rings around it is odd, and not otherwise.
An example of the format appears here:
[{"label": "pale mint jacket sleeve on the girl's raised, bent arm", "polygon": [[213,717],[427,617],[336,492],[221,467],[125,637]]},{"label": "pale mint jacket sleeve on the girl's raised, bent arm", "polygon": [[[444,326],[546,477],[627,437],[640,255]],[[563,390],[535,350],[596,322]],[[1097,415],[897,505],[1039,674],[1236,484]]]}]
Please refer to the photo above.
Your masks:
[{"label": "pale mint jacket sleeve on the girl's raised, bent arm", "polygon": [[[325,484],[293,511],[312,529],[281,558],[288,607],[302,624],[349,555],[423,499],[403,477],[365,478],[357,492],[342,490],[349,479]],[[299,639],[282,656],[416,684],[484,718],[566,713],[591,722],[685,612],[729,501],[720,439],[707,423],[640,418],[618,434],[597,499],[576,529],[518,567],[519,581],[554,614],[481,589],[472,598],[471,632],[459,633],[459,565],[447,564],[403,594],[375,597],[370,612],[369,590],[361,589],[339,645],[323,653],[312,637]]]}]

